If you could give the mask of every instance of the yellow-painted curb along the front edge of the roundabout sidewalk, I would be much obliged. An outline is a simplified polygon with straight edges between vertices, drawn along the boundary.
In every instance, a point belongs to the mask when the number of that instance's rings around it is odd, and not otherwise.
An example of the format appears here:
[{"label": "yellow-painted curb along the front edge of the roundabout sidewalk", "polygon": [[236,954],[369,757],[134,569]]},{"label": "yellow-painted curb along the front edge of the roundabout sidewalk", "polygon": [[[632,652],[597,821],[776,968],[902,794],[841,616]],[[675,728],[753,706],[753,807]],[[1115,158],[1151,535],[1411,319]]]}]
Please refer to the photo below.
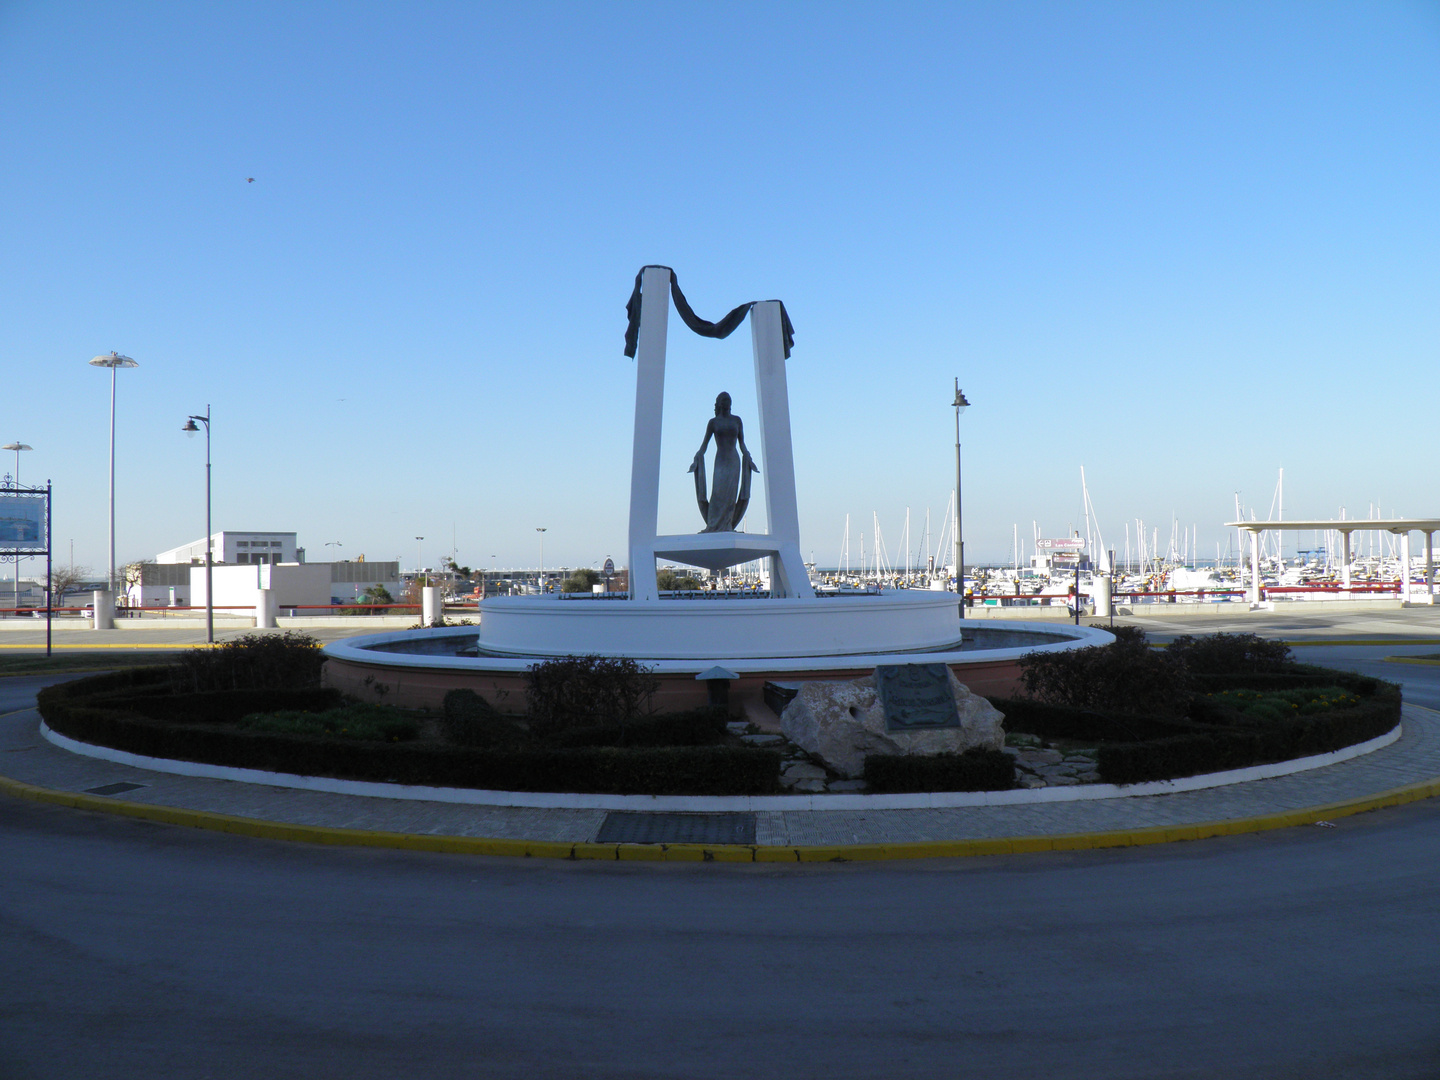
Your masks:
[{"label": "yellow-painted curb along the front edge of the roundabout sidewalk", "polygon": [[518,858],[569,858],[649,863],[851,863],[897,858],[966,858],[973,855],[1020,855],[1032,851],[1093,851],[1096,848],[1139,847],[1143,844],[1174,844],[1234,837],[1246,832],[1313,825],[1316,821],[1346,818],[1384,806],[1431,799],[1440,795],[1440,778],[1392,788],[1364,799],[1331,802],[1299,811],[1266,814],[1231,821],[1208,821],[1197,825],[1159,825],[1142,829],[1110,832],[1071,832],[1051,837],[1005,837],[986,840],[916,841],[909,844],[837,844],[760,847],[749,844],[567,844],[562,841],[494,840],[484,837],[436,837],[409,832],[373,832],[367,829],[327,828],[321,825],[292,825],[285,822],[240,818],[212,811],[154,806],[124,802],[101,795],[62,792],[0,776],[0,792],[19,799],[48,802],[75,809],[117,814],[167,825],[232,832],[261,840],[284,840],[301,844],[334,844],[341,847],[402,848],[406,851],[436,851],[455,855],[510,855]]}]

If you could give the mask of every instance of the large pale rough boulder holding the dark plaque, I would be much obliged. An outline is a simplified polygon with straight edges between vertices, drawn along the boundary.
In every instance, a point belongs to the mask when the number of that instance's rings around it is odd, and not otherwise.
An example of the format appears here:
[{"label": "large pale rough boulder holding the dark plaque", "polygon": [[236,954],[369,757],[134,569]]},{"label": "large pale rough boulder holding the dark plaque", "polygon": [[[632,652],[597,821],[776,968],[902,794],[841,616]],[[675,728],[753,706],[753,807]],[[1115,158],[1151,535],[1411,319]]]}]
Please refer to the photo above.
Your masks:
[{"label": "large pale rough boulder holding the dark plaque", "polygon": [[780,730],[792,743],[819,757],[841,776],[865,770],[867,753],[962,753],[973,746],[998,750],[1005,744],[1004,714],[972,694],[950,671],[950,691],[959,727],[887,732],[876,677],[854,683],[806,683],[780,714]]}]

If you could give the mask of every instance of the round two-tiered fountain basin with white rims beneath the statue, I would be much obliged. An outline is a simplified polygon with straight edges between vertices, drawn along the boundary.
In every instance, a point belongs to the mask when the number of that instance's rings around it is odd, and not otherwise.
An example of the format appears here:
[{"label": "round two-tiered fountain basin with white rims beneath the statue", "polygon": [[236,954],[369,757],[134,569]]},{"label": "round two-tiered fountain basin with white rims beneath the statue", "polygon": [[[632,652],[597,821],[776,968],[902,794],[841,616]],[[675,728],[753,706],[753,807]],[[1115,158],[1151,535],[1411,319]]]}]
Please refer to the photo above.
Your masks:
[{"label": "round two-tiered fountain basin with white rims beneath the statue", "polygon": [[[507,713],[524,711],[526,675],[547,657],[641,661],[660,680],[661,711],[704,704],[697,675],[727,668],[730,700],[765,683],[848,680],[881,664],[948,664],[973,693],[1020,688],[1020,658],[1113,641],[1103,629],[1022,619],[962,622],[955,596],[896,592],[824,599],[560,600],[497,598],[481,624],[344,638],[325,645],[325,684],[386,703],[438,708],[469,688]],[[788,642],[788,644],[786,644]]]}]

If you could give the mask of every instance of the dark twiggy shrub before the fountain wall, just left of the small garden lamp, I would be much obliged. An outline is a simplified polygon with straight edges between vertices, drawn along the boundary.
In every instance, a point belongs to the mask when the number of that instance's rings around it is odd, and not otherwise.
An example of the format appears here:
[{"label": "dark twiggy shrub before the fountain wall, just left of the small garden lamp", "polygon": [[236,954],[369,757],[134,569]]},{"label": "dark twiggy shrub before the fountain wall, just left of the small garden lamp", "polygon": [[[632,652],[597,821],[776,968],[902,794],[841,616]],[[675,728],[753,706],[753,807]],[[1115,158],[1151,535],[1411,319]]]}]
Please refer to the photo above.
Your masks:
[{"label": "dark twiggy shrub before the fountain wall, just left of the small garden lamp", "polygon": [[566,727],[615,727],[649,711],[660,688],[652,671],[628,657],[556,657],[530,665],[530,730],[546,737]]}]

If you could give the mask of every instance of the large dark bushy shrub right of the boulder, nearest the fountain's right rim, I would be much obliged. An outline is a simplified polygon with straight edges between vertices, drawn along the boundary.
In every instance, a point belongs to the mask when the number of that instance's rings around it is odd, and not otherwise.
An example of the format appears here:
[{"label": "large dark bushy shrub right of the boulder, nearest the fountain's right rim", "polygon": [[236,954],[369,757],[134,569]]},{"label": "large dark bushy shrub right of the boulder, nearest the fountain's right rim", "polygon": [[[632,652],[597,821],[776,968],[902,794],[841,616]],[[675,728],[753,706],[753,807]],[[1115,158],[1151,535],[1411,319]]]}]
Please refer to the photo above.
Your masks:
[{"label": "large dark bushy shrub right of the boulder, nearest the fountain's right rim", "polygon": [[1145,631],[1123,629],[1112,645],[1021,657],[1020,677],[1027,693],[1079,708],[1182,713],[1189,693],[1184,662],[1169,649],[1152,649]]}]

